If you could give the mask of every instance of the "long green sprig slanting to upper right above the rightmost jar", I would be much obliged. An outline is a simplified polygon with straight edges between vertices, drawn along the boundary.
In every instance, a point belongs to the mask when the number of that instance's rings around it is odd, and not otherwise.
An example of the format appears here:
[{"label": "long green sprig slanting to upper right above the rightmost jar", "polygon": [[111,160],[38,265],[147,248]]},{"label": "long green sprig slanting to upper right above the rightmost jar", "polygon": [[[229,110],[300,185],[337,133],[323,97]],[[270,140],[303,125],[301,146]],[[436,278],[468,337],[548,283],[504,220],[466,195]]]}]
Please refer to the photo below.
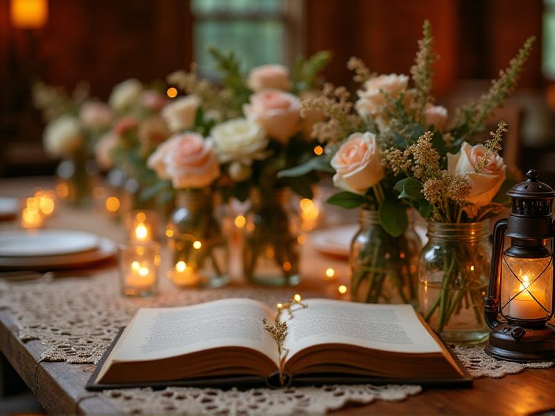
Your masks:
[{"label": "long green sprig slanting to upper right above the rightmost jar", "polygon": [[463,130],[466,126],[463,134],[472,137],[483,128],[484,121],[497,107],[501,107],[505,98],[515,89],[535,40],[536,37],[531,36],[524,42],[517,55],[509,61],[509,67],[499,71],[499,78],[492,81],[488,92],[482,95],[477,103],[471,102],[459,109],[453,121],[453,130]]}]

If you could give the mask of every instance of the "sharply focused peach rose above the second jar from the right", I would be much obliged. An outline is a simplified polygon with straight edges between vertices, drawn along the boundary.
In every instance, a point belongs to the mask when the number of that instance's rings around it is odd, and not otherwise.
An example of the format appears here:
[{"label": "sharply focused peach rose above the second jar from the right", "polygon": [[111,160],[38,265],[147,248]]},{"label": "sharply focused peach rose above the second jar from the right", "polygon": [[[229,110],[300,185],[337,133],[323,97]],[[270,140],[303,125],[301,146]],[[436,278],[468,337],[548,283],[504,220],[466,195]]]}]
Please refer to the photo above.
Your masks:
[{"label": "sharply focused peach rose above the second jar from the right", "polygon": [[334,185],[354,193],[364,194],[384,177],[382,156],[376,135],[353,133],[332,158],[335,169]]}]

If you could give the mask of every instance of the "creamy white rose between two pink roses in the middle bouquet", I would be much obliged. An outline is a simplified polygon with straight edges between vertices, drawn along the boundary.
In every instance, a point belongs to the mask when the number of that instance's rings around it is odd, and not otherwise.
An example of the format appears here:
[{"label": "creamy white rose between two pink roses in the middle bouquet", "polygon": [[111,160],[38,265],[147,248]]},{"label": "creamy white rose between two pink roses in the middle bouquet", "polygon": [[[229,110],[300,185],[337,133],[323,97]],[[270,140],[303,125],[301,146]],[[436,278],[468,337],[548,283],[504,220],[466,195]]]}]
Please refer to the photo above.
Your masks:
[{"label": "creamy white rose between two pink roses in the middle bouquet", "polygon": [[216,146],[220,162],[241,162],[250,165],[266,157],[268,139],[261,125],[246,119],[233,119],[215,125],[210,137]]}]

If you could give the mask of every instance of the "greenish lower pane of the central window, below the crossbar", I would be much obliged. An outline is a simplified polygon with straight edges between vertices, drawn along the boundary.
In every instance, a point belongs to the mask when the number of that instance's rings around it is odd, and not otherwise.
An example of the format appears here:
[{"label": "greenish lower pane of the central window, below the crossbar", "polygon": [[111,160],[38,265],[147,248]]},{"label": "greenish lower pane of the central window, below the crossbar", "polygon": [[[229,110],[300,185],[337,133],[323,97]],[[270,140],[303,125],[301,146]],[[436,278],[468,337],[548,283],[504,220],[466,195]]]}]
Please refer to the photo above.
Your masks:
[{"label": "greenish lower pane of the central window, below the crossbar", "polygon": [[285,63],[282,21],[199,21],[194,39],[195,61],[205,76],[216,76],[208,46],[233,51],[244,71],[261,64]]}]

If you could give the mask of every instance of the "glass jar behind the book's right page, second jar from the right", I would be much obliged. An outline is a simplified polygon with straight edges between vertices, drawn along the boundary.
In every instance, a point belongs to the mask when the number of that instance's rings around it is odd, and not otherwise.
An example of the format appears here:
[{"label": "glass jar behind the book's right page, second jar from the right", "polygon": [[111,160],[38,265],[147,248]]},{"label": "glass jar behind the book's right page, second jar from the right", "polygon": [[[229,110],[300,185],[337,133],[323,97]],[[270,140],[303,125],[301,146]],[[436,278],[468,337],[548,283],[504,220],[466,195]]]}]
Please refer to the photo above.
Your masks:
[{"label": "glass jar behind the book's right page, second jar from the right", "polygon": [[412,221],[398,237],[380,225],[377,211],[361,209],[359,223],[359,232],[351,243],[351,299],[416,305],[422,243]]}]

